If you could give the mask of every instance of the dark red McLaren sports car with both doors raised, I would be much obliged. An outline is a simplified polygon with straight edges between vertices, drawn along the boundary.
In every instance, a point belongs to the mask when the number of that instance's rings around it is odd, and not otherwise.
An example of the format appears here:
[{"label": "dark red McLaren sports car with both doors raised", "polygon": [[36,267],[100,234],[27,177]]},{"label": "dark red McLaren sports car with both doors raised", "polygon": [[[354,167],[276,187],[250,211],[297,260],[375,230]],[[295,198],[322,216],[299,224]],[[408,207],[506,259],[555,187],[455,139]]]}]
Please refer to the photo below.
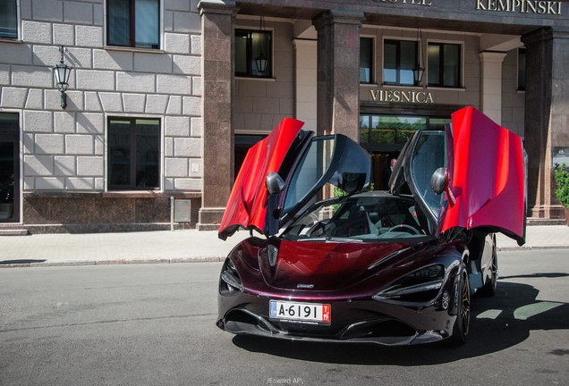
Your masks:
[{"label": "dark red McLaren sports car with both doors raised", "polygon": [[[417,131],[387,191],[343,135],[287,118],[246,155],[221,239],[217,326],[288,340],[463,343],[497,288],[496,232],[525,238],[522,140],[473,107]],[[253,235],[253,231],[259,233]]]}]

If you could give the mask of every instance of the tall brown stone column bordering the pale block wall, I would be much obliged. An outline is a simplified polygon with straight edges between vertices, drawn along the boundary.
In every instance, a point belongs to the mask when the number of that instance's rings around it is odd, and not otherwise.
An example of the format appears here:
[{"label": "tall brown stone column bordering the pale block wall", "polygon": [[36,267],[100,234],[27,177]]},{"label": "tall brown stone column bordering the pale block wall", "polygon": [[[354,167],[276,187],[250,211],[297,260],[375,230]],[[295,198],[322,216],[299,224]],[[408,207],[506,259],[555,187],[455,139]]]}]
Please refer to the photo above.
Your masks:
[{"label": "tall brown stone column bordering the pale block wall", "polygon": [[202,0],[202,159],[201,208],[196,228],[217,230],[229,197],[234,170],[233,0]]}]

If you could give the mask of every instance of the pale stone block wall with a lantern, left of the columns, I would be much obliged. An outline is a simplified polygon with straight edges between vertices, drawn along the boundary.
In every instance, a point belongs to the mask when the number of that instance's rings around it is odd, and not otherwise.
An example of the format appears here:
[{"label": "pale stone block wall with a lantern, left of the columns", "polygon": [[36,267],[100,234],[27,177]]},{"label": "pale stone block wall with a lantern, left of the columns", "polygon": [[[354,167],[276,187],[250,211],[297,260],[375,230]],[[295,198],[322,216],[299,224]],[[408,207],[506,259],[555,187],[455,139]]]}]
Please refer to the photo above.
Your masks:
[{"label": "pale stone block wall with a lantern, left of the columns", "polygon": [[[20,39],[0,39],[0,113],[20,114],[24,224],[37,220],[28,214],[30,200],[42,193],[67,200],[68,194],[106,192],[108,117],[160,119],[158,193],[200,197],[198,1],[160,3],[161,46],[149,50],[106,46],[103,0],[20,1]],[[73,67],[65,109],[53,72],[59,46]]]}]

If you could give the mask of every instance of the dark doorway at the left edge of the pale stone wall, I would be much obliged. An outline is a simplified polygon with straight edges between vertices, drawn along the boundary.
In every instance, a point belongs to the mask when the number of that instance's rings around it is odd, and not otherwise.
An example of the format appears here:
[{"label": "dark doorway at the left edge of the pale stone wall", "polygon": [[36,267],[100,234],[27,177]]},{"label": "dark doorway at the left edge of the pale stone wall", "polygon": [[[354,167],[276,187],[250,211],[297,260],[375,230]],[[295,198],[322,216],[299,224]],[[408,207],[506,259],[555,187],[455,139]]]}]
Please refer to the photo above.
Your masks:
[{"label": "dark doorway at the left edge of the pale stone wall", "polygon": [[17,113],[0,113],[0,222],[20,222],[20,128]]}]

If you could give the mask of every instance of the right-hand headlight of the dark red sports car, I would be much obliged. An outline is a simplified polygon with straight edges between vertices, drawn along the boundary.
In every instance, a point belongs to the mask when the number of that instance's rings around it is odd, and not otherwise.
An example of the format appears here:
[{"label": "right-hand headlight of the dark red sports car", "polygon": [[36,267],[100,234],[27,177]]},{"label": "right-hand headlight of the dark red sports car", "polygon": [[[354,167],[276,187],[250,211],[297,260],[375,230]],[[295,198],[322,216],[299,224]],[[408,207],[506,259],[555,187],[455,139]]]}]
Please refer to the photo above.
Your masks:
[{"label": "right-hand headlight of the dark red sports car", "polygon": [[374,300],[391,300],[403,303],[426,303],[437,297],[443,286],[445,267],[429,265],[409,273],[395,284],[373,296]]}]

